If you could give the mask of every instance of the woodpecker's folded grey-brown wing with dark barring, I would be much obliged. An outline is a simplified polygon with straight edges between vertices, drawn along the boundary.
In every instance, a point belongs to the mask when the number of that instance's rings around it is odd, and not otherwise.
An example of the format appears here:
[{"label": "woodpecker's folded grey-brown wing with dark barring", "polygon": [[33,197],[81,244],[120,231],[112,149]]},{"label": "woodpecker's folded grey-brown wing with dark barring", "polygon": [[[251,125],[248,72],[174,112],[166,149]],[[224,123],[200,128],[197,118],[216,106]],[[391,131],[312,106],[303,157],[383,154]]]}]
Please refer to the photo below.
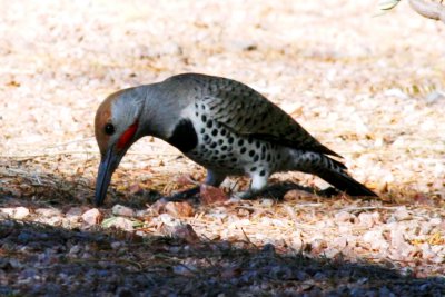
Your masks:
[{"label": "woodpecker's folded grey-brown wing with dark barring", "polygon": [[228,79],[208,80],[206,85],[206,91],[196,100],[207,107],[210,118],[236,133],[340,157],[323,146],[279,107],[246,85]]}]

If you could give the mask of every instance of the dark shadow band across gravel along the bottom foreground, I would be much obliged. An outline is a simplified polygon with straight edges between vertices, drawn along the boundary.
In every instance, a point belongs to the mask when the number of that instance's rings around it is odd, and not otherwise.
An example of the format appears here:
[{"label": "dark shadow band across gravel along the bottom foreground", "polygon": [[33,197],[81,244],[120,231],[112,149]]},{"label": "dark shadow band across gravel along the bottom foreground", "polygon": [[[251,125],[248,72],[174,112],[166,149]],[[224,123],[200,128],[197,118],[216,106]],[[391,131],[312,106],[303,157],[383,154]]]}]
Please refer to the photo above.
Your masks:
[{"label": "dark shadow band across gravel along the bottom foreground", "polygon": [[9,296],[445,294],[444,278],[418,279],[376,265],[280,255],[271,245],[190,245],[110,229],[81,231],[2,220],[0,246],[0,295]]}]

